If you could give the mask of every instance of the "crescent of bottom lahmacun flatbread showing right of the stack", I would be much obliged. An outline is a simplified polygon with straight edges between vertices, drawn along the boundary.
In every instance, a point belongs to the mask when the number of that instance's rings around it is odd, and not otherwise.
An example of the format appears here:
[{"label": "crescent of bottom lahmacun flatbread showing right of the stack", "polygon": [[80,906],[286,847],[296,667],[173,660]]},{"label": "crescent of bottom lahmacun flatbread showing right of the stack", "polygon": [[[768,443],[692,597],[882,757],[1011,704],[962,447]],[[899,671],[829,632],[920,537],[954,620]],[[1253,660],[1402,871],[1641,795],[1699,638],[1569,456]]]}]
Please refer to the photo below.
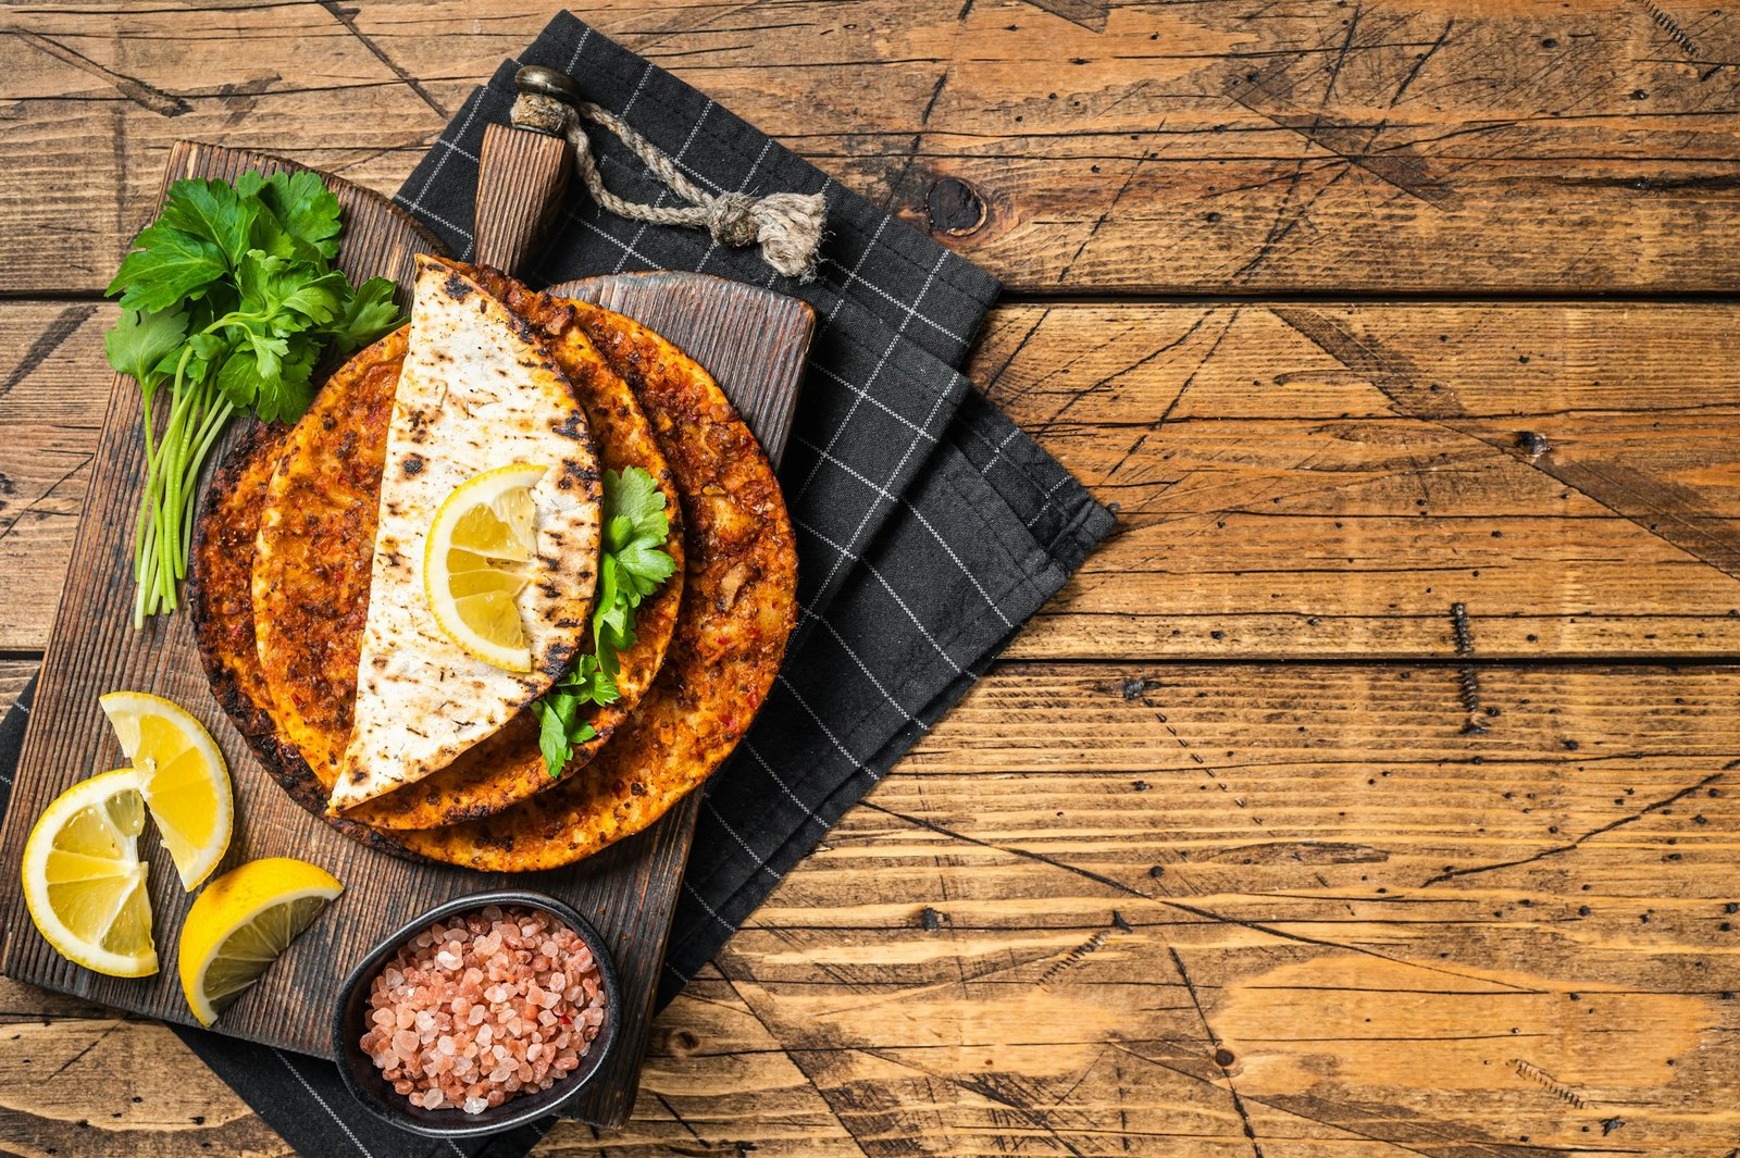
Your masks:
[{"label": "crescent of bottom lahmacun flatbread showing right of the stack", "polygon": [[520,308],[546,332],[578,325],[635,391],[682,496],[689,574],[658,680],[579,775],[482,821],[393,833],[433,861],[505,873],[592,855],[698,788],[748,730],[797,622],[797,548],[780,482],[712,376],[607,309],[560,299]]}]

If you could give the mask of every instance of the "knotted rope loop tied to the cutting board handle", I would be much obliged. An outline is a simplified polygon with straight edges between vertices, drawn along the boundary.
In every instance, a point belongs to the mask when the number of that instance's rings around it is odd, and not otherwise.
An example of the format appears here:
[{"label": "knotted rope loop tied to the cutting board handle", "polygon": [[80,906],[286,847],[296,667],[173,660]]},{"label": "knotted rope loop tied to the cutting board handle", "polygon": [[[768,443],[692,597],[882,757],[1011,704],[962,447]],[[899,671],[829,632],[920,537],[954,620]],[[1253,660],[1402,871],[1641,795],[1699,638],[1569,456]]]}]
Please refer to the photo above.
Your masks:
[{"label": "knotted rope loop tied to the cutting board handle", "polygon": [[[541,92],[519,94],[512,120],[520,129],[536,129],[567,139],[574,150],[574,169],[581,183],[606,212],[647,224],[706,230],[715,242],[741,249],[760,243],[762,259],[780,273],[811,282],[816,276],[816,256],[826,231],[826,202],[820,193],[706,193],[677,169],[656,144],[640,136],[616,113],[590,101],[567,103]],[[611,193],[599,172],[583,122],[592,122],[614,134],[640,158],[658,181],[687,205],[642,205]]]}]

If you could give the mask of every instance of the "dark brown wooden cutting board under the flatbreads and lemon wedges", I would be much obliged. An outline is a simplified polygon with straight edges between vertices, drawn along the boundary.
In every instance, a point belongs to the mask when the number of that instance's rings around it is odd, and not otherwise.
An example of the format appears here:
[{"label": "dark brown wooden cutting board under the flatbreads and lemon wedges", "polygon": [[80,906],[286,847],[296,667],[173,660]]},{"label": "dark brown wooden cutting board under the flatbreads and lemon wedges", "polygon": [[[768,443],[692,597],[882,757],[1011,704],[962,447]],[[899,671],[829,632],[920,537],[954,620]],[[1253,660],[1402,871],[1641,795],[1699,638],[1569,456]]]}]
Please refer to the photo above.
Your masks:
[{"label": "dark brown wooden cutting board under the flatbreads and lemon wedges", "polygon": [[[171,150],[164,188],[181,177],[230,179],[247,169],[275,172],[296,165],[259,153],[179,143]],[[435,238],[386,198],[336,177],[327,177],[327,184],[345,209],[338,264],[353,282],[383,275],[407,287],[412,256],[438,252]],[[586,278],[560,290],[637,318],[705,365],[778,463],[814,327],[809,306],[691,273]],[[90,372],[99,369],[90,367]],[[211,464],[223,461],[242,426],[233,424]],[[12,784],[12,805],[0,828],[5,915],[0,972],[134,1014],[195,1024],[176,981],[176,939],[191,895],[183,892],[150,826],[141,849],[150,859],[160,958],[155,977],[103,977],[57,956],[31,925],[16,883],[24,838],[44,805],[75,781],[125,763],[97,695],[115,689],[157,692],[193,711],[230,762],[237,828],[219,871],[256,857],[294,855],[327,868],[346,887],[345,895],[223,1015],[218,1033],[329,1057],[338,981],[379,937],[461,894],[538,888],[579,909],[614,949],[625,998],[621,1038],[599,1078],[567,1113],[604,1127],[619,1125],[635,1101],[699,796],[680,802],[646,833],[548,873],[501,875],[412,864],[371,852],[331,829],[271,781],[211,697],[184,610],[160,616],[141,631],[130,626],[132,520],[143,461],[139,391],[132,379],[117,377]]]}]

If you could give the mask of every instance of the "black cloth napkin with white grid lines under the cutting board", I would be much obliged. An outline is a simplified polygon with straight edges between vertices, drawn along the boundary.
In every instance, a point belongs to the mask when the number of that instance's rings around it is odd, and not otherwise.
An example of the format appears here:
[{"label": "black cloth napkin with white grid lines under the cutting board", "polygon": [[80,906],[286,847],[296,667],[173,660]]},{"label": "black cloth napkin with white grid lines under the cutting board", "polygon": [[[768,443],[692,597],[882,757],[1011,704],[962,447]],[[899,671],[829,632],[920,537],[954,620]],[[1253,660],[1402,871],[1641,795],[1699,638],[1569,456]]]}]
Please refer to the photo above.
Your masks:
[{"label": "black cloth napkin with white grid lines under the cutting board", "polygon": [[[821,193],[828,205],[830,236],[807,285],[774,273],[755,249],[602,214],[579,190],[536,268],[522,271],[543,285],[693,270],[795,294],[820,315],[780,471],[799,536],[800,621],[767,704],[706,786],[663,1005],[960,699],[1114,520],[960,376],[997,296],[988,273],[571,14],[501,64],[398,191],[452,254],[470,257],[478,144],[485,125],[508,122],[520,64],[574,77],[710,193]],[[670,203],[619,141],[588,132],[612,191]],[[14,716],[9,729],[23,732]],[[3,737],[0,762],[16,762]],[[325,1062],[177,1033],[301,1153],[454,1153],[364,1115]],[[458,1153],[519,1156],[543,1128]]]}]

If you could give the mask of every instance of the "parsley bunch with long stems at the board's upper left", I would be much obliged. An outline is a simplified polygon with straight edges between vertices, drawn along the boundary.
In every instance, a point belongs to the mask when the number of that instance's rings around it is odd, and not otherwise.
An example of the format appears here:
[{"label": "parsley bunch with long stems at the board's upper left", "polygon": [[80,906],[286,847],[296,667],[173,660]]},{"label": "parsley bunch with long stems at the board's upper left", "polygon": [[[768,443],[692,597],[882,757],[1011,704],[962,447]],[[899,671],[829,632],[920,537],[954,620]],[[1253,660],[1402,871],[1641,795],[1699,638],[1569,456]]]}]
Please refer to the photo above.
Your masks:
[{"label": "parsley bunch with long stems at the board's upper left", "polygon": [[[339,228],[338,198],[311,172],[177,181],[120,263],[108,294],[120,294],[122,315],[103,348],[144,396],[136,628],[176,609],[193,492],[230,416],[301,417],[329,346],[346,355],[400,323],[392,282],[351,289],[331,268]],[[165,386],[169,416],[158,433],[151,407]]]}]

